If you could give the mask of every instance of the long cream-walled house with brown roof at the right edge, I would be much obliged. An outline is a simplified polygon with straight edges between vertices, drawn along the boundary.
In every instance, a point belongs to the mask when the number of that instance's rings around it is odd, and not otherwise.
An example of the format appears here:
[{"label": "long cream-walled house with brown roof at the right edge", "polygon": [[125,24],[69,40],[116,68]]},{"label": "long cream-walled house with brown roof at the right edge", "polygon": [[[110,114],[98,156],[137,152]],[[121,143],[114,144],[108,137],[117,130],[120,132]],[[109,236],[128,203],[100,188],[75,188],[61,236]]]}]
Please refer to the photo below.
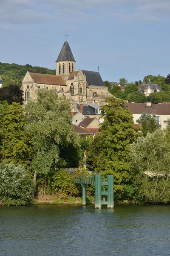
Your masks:
[{"label": "long cream-walled house with brown roof at the right edge", "polygon": [[136,120],[140,118],[142,113],[148,113],[156,116],[157,122],[161,125],[161,128],[166,128],[167,119],[170,118],[170,104],[153,104],[146,103],[125,103],[125,107],[133,113],[133,120],[135,125]]}]

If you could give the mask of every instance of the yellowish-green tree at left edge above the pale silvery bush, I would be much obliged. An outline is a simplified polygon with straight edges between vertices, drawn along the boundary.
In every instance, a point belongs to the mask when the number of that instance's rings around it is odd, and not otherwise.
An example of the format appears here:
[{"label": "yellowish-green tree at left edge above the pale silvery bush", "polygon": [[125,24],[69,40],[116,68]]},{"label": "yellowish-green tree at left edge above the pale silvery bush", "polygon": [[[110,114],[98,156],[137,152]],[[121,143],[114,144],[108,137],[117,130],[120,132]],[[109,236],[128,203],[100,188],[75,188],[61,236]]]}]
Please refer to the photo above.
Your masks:
[{"label": "yellowish-green tree at left edge above the pale silvery bush", "polygon": [[24,131],[25,122],[26,119],[20,103],[14,102],[12,105],[8,105],[1,122],[1,154],[8,163],[30,166],[32,151]]}]

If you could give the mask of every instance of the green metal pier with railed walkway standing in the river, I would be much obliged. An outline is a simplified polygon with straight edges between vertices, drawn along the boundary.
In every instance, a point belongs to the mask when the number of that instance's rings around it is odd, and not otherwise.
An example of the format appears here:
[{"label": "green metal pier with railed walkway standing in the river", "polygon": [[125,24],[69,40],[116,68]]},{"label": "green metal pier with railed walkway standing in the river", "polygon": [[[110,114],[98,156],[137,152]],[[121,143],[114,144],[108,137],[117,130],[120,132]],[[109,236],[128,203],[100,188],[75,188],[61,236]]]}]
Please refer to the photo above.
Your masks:
[{"label": "green metal pier with railed walkway standing in the river", "polygon": [[94,184],[95,208],[101,209],[102,205],[106,204],[108,208],[113,209],[113,175],[75,175],[73,183],[82,184],[82,205],[86,205],[86,185]]}]

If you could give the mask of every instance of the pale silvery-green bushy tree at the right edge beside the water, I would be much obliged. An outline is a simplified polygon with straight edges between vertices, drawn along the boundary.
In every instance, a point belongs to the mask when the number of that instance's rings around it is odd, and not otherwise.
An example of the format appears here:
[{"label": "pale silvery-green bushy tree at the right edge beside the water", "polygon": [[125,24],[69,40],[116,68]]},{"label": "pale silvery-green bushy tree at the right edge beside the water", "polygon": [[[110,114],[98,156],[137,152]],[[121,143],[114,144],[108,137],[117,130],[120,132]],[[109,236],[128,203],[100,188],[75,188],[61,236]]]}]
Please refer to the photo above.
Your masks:
[{"label": "pale silvery-green bushy tree at the right edge beside the water", "polygon": [[170,201],[170,141],[161,129],[139,137],[130,148],[134,176],[133,201],[167,203]]}]

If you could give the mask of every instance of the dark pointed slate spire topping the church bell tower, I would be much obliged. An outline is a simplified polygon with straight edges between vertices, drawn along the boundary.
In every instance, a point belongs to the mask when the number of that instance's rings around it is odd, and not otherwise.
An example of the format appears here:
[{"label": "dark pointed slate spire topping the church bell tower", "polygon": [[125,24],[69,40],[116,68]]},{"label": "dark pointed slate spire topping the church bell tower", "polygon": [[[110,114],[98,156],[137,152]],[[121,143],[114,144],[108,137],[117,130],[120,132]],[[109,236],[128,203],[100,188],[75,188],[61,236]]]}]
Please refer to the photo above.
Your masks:
[{"label": "dark pointed slate spire topping the church bell tower", "polygon": [[68,44],[68,41],[64,42],[56,62],[60,62],[60,61],[75,61],[73,57],[73,53],[71,52],[70,46]]}]

